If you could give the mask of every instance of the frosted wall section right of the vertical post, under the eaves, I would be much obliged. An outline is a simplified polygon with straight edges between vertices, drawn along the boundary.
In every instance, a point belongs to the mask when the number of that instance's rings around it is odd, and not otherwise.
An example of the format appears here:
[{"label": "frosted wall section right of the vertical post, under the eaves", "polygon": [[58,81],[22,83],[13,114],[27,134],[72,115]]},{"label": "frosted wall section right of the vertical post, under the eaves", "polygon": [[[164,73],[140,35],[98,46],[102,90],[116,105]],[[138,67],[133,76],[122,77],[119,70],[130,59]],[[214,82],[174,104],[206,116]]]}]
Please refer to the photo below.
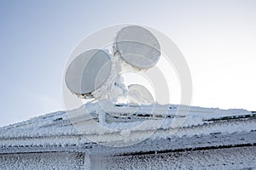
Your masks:
[{"label": "frosted wall section right of the vertical post, under the eaves", "polygon": [[151,155],[94,157],[93,170],[256,169],[256,146]]}]

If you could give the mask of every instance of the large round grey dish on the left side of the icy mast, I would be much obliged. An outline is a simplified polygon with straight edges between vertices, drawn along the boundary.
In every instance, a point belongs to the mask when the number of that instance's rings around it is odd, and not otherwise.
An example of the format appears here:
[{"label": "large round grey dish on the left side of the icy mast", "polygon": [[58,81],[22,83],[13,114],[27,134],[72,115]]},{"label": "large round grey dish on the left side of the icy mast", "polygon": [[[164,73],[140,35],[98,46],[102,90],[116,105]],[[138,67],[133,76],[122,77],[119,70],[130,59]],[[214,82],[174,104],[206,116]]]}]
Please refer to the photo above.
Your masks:
[{"label": "large round grey dish on the left side of the icy mast", "polygon": [[102,87],[111,71],[110,54],[92,49],[79,54],[67,67],[65,81],[74,94],[90,94]]}]

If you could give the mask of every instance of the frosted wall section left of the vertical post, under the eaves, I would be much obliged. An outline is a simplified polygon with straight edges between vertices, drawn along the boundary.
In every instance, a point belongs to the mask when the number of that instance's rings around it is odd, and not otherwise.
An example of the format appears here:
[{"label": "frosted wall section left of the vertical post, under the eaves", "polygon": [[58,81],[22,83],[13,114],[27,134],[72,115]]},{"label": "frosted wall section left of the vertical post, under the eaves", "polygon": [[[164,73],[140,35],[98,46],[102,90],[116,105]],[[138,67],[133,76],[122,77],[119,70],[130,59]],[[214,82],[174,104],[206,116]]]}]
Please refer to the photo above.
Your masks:
[{"label": "frosted wall section left of the vertical post, under the eaves", "polygon": [[84,169],[84,154],[67,152],[2,154],[0,169]]}]

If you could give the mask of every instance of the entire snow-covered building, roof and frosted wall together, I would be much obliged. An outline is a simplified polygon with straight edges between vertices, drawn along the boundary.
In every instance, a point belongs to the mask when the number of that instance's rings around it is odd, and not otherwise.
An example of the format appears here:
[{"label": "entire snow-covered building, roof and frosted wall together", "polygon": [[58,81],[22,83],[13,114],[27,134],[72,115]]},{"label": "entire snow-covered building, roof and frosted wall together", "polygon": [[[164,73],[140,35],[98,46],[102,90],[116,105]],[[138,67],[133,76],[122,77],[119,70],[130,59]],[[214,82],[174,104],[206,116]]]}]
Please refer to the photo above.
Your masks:
[{"label": "entire snow-covered building, roof and frosted wall together", "polygon": [[[184,115],[188,109],[113,105],[103,100],[68,115],[58,111],[1,127],[0,169],[256,168],[255,113],[191,107]],[[94,126],[100,115],[105,115],[100,125],[108,130]],[[78,124],[85,127],[83,133],[76,129]],[[144,136],[148,139],[141,141]],[[141,142],[127,147],[104,145],[118,145],[124,139]]]}]

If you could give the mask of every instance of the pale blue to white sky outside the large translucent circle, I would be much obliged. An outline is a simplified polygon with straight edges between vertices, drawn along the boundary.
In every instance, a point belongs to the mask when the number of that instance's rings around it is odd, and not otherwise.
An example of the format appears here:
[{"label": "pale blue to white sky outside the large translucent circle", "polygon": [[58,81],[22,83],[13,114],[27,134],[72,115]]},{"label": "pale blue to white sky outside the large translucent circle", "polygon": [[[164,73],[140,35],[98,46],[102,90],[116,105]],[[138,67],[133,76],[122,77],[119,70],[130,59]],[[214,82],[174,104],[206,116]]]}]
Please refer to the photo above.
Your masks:
[{"label": "pale blue to white sky outside the large translucent circle", "polygon": [[69,54],[90,33],[153,27],[187,60],[192,105],[256,111],[256,1],[0,1],[0,126],[64,109]]}]

